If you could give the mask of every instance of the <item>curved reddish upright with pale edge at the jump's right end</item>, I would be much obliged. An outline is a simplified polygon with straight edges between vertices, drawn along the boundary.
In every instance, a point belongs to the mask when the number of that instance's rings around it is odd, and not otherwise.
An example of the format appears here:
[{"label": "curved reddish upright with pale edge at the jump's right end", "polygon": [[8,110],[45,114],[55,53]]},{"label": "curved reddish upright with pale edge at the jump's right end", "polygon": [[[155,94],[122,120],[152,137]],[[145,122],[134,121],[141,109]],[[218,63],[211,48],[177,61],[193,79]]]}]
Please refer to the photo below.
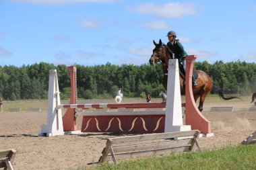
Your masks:
[{"label": "curved reddish upright with pale edge at the jump's right end", "polygon": [[210,137],[214,136],[211,131],[211,123],[198,110],[193,97],[192,74],[196,58],[195,55],[186,57],[185,124],[191,125],[192,130],[199,130],[203,137]]}]

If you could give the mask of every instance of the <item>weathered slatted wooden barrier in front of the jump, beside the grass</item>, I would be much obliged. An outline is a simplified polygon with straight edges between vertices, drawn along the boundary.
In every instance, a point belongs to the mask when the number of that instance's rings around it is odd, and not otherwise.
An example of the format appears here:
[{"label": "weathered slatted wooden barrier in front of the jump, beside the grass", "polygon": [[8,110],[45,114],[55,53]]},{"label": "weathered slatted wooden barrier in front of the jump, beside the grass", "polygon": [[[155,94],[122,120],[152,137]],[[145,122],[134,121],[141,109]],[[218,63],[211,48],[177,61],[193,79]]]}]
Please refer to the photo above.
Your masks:
[{"label": "weathered slatted wooden barrier in front of the jump, beside the grass", "polygon": [[123,159],[187,152],[192,151],[194,144],[200,150],[197,140],[199,134],[198,130],[191,130],[108,138],[98,162],[113,160],[117,163]]}]

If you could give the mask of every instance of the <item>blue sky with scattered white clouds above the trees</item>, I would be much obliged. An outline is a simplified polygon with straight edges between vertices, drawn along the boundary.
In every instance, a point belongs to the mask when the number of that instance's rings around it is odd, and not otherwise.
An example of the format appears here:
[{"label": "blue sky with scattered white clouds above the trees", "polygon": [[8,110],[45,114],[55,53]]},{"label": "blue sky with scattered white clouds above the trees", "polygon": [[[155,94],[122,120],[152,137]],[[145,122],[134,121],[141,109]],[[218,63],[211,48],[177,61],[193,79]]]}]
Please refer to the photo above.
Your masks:
[{"label": "blue sky with scattered white clouds above the trees", "polygon": [[196,61],[256,62],[256,1],[0,0],[0,65],[143,65],[177,33]]}]

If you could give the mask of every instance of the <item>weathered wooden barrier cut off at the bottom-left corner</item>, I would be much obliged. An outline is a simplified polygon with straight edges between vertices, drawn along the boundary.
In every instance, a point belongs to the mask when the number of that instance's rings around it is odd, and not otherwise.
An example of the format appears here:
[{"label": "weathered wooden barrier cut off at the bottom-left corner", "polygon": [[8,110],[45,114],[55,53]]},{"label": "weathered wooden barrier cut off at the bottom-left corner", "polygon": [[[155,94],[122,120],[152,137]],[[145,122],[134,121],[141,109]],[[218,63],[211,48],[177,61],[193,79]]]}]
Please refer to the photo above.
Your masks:
[{"label": "weathered wooden barrier cut off at the bottom-left corner", "polygon": [[0,151],[0,168],[13,170],[12,163],[14,161],[16,151],[15,149],[7,149]]}]

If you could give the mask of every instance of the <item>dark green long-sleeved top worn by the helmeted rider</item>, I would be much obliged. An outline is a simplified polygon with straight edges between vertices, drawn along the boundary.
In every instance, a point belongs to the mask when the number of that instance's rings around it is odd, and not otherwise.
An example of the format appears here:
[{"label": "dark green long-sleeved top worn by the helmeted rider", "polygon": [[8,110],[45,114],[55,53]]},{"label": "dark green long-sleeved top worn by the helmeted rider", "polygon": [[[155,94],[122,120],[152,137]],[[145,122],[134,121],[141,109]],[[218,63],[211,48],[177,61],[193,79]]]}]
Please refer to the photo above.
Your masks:
[{"label": "dark green long-sleeved top worn by the helmeted rider", "polygon": [[170,48],[170,50],[172,50],[172,52],[174,53],[174,58],[178,58],[179,62],[185,60],[187,52],[185,52],[179,40],[174,40],[173,45],[170,42],[168,42],[167,46],[168,48]]}]

